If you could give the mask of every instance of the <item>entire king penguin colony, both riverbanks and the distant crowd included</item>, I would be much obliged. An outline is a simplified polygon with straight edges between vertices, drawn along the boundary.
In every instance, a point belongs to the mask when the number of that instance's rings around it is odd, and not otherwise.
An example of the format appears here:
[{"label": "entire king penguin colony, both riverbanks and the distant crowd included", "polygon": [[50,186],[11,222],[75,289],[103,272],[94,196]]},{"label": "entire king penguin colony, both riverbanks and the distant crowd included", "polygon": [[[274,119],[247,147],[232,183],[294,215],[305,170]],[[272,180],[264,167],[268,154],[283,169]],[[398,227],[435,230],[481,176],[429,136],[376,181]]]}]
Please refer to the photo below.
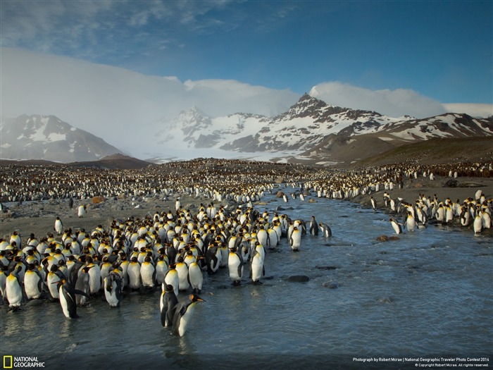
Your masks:
[{"label": "entire king penguin colony, both riverbanks and the distant crowd included", "polygon": [[[260,214],[254,209],[254,202],[275,189],[273,184],[300,187],[299,193],[291,194],[300,202],[312,192],[330,199],[374,194],[371,206],[375,210],[376,194],[383,190],[381,202],[397,215],[390,221],[395,233],[411,232],[433,220],[459,221],[475,233],[491,228],[492,199],[482,192],[463,202],[440,201],[436,195],[420,195],[415,204],[392,198],[394,187],[404,186],[406,178],[432,180],[447,173],[456,178],[458,174],[492,172],[491,163],[450,166],[382,166],[344,173],[270,163],[265,167],[256,164],[252,170],[249,162],[211,159],[139,171],[2,166],[2,202],[122,196],[174,197],[176,202],[175,211],[156,212],[142,219],[115,219],[106,228],[99,225],[91,232],[63,228],[58,218],[54,233],[39,239],[30,235],[22,242],[19,233],[12,233],[10,240],[0,240],[0,292],[13,310],[26,299],[49,297],[60,302],[65,316],[75,318],[77,307],[98,295],[104,294],[110,307],[119,307],[123,292],[160,289],[161,323],[170,327],[171,333],[183,335],[194,304],[202,301],[199,294],[204,273],[227,269],[233,285],[247,280],[258,284],[265,276],[266,250],[280,248],[281,238],[296,252],[306,233],[324,238],[332,235],[330,227],[315,217],[307,228],[303,220],[290,220],[286,214]],[[211,202],[192,214],[182,207],[180,195]],[[285,194],[281,197],[289,202]],[[77,208],[77,216],[83,217],[85,211],[85,207]],[[397,221],[399,214],[405,216],[404,221]]]}]

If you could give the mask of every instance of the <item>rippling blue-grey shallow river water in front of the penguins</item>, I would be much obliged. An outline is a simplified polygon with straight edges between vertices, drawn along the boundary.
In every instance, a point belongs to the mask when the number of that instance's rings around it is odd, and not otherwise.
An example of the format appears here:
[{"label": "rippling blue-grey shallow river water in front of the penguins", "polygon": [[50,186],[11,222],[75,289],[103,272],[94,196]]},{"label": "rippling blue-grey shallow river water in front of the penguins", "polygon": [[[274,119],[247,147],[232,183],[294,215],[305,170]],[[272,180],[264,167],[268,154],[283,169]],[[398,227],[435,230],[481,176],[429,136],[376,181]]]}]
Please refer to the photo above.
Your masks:
[{"label": "rippling blue-grey shallow river water in front of the penguins", "polygon": [[[232,287],[227,269],[206,276],[206,302],[182,338],[161,326],[158,292],[127,295],[119,309],[92,302],[76,320],[59,304],[15,313],[4,305],[1,354],[76,369],[345,369],[367,365],[354,357],[492,357],[491,238],[428,226],[377,242],[393,233],[386,214],[332,199],[263,200],[261,212],[292,206],[285,213],[293,219],[315,215],[332,238],[306,235],[298,253],[282,239],[266,254],[262,285],[244,278]],[[293,275],[310,280],[288,281]],[[384,365],[415,363],[375,364]]]}]

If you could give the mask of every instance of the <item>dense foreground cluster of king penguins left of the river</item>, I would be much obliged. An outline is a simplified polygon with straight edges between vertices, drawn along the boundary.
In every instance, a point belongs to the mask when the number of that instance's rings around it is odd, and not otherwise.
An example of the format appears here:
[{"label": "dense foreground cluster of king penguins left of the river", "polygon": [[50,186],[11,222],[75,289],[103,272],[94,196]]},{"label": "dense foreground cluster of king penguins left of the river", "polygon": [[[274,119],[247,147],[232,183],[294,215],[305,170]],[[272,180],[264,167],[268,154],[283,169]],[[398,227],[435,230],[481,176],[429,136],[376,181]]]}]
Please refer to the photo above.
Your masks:
[{"label": "dense foreground cluster of king penguins left of the river", "polygon": [[[264,192],[258,187],[252,196],[259,200]],[[61,222],[56,217],[56,233]],[[317,225],[314,218],[312,223]],[[192,214],[178,202],[175,211],[116,219],[107,229],[99,225],[90,233],[67,228],[59,238],[48,233],[38,240],[31,234],[23,242],[14,232],[9,242],[0,242],[1,294],[14,311],[25,299],[46,297],[73,319],[77,307],[96,297],[104,295],[110,307],[120,307],[125,292],[161,289],[161,323],[181,336],[194,304],[204,301],[199,297],[204,273],[225,268],[232,285],[261,284],[266,249],[280,248],[288,234],[292,250],[299,250],[304,221],[260,214],[253,207],[229,211],[213,203],[201,204]]]}]

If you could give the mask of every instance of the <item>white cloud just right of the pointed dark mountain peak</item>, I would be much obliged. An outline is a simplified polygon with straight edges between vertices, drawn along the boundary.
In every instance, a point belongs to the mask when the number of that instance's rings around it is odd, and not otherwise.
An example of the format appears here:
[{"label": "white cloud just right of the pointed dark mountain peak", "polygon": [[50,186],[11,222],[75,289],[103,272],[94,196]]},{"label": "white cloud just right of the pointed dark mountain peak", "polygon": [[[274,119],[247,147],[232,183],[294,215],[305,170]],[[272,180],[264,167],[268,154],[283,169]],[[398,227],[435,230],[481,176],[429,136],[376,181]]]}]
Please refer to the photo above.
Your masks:
[{"label": "white cloud just right of the pointed dark mountain peak", "polygon": [[445,113],[439,101],[413,90],[368,90],[342,82],[322,82],[310,91],[312,97],[334,106],[377,111],[385,116],[426,118]]}]

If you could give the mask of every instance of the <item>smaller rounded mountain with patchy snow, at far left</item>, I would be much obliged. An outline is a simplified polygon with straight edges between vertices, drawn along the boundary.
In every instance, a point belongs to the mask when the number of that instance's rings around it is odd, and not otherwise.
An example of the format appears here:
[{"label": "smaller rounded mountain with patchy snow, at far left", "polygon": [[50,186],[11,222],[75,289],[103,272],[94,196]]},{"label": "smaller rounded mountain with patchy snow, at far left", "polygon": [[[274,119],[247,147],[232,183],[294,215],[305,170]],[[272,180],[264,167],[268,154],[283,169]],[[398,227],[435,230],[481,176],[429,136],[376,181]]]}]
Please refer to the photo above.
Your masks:
[{"label": "smaller rounded mountain with patchy snow, at far left", "polygon": [[56,162],[96,161],[122,153],[100,137],[70,126],[56,116],[18,116],[0,123],[2,159]]}]

